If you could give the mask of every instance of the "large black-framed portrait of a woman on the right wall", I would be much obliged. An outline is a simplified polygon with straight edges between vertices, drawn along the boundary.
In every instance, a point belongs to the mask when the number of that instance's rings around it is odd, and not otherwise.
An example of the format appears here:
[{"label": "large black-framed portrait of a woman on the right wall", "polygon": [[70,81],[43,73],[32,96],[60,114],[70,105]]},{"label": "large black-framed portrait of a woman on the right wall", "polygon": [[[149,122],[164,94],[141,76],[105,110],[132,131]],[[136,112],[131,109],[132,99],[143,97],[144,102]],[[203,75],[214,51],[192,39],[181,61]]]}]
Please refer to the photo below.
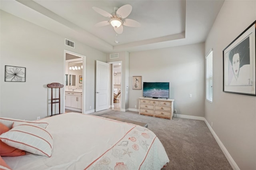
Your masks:
[{"label": "large black-framed portrait of a woman on the right wall", "polygon": [[223,92],[256,96],[256,21],[223,50]]}]

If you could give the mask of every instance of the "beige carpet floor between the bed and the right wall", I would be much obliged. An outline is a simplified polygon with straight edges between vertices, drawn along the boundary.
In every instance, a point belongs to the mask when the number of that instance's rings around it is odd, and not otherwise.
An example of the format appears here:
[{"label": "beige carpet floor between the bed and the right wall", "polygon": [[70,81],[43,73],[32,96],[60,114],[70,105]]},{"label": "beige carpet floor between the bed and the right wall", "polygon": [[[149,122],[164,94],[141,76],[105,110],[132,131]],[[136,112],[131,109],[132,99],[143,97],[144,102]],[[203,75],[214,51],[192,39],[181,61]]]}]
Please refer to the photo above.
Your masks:
[{"label": "beige carpet floor between the bed and the right wall", "polygon": [[91,114],[148,123],[148,129],[158,136],[170,159],[162,170],[232,170],[204,121],[176,117],[168,120],[131,111],[104,110]]}]

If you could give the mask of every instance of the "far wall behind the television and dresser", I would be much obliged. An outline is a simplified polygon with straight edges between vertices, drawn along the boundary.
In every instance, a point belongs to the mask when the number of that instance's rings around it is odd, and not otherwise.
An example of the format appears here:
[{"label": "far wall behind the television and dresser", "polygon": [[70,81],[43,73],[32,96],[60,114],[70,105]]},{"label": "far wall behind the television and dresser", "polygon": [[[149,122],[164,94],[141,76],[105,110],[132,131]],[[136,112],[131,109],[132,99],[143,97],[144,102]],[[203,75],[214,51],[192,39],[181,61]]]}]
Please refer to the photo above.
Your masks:
[{"label": "far wall behind the television and dresser", "polygon": [[132,89],[132,76],[142,76],[142,82],[170,82],[178,114],[204,117],[204,43],[132,52],[129,68],[129,108],[138,108],[142,97]]}]

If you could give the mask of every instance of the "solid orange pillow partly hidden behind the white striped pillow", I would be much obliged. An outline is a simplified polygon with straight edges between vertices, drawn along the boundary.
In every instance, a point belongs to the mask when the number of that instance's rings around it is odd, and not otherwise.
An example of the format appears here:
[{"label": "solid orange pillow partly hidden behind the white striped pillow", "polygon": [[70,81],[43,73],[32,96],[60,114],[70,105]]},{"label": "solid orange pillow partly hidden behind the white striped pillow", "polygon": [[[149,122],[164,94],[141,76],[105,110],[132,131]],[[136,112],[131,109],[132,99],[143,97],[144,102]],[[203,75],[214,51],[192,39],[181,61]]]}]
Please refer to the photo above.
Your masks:
[{"label": "solid orange pillow partly hidden behind the white striped pillow", "polygon": [[[0,134],[8,132],[10,129],[6,127],[4,124],[0,123]],[[25,155],[26,152],[24,150],[20,150],[5,144],[0,140],[0,155],[1,156],[22,156]]]}]

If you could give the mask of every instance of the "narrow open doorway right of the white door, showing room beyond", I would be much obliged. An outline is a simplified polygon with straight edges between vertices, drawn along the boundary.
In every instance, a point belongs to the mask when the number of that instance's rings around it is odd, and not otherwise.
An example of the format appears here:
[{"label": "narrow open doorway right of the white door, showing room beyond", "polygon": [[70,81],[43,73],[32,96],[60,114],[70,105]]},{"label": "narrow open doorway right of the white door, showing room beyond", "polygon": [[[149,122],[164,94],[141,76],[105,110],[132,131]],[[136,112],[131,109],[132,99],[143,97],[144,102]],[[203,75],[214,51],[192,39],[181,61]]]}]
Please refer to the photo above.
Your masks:
[{"label": "narrow open doorway right of the white door, showing room beyond", "polygon": [[122,62],[114,62],[112,63],[112,95],[113,95],[113,110],[121,110],[122,105]]}]

